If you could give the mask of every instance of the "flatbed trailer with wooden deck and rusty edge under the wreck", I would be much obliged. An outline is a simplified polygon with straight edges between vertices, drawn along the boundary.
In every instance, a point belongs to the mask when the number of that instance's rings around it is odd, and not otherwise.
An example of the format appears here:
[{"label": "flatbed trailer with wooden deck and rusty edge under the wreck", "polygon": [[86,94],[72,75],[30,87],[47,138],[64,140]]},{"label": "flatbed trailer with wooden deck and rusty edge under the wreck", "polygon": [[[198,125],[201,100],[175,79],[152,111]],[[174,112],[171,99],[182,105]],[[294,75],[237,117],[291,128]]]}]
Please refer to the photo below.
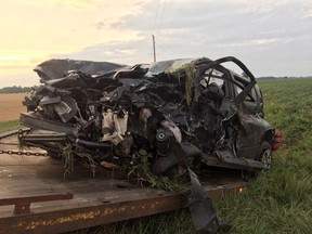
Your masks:
[{"label": "flatbed trailer with wooden deck and rusty edge under the wreck", "polygon": [[[76,166],[64,177],[62,160],[0,155],[0,234],[62,233],[168,212],[188,206],[188,196],[142,187],[101,168]],[[239,174],[211,170],[200,182],[210,198],[240,193]]]}]

